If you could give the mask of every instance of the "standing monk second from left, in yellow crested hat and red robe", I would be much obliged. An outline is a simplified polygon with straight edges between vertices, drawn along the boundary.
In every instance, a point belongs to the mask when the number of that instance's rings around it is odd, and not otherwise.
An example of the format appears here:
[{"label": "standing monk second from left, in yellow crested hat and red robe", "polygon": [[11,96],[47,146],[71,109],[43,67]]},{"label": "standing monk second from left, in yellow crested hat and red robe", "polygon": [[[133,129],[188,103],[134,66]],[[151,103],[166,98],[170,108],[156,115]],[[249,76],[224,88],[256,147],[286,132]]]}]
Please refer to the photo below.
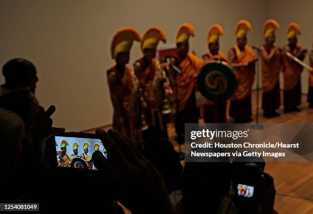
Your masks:
[{"label": "standing monk second from left, in yellow crested hat and red robe", "polygon": [[134,63],[134,71],[142,88],[146,102],[146,124],[148,129],[142,131],[143,141],[151,138],[168,138],[166,118],[162,114],[163,91],[162,81],[166,80],[165,71],[160,62],[155,59],[159,41],[166,42],[166,35],[159,27],[149,28],[141,39],[143,57]]}]

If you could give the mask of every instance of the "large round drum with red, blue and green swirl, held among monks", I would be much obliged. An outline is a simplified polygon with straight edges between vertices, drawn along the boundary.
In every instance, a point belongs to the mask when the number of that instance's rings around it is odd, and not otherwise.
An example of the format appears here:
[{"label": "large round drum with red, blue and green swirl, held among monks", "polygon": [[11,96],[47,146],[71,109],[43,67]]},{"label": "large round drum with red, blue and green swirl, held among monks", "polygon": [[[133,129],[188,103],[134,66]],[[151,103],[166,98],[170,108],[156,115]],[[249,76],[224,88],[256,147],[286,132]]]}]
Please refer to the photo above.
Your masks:
[{"label": "large round drum with red, blue and green swirl, held among monks", "polygon": [[208,100],[216,103],[227,101],[237,88],[236,72],[222,63],[208,63],[202,67],[197,85],[200,93]]}]

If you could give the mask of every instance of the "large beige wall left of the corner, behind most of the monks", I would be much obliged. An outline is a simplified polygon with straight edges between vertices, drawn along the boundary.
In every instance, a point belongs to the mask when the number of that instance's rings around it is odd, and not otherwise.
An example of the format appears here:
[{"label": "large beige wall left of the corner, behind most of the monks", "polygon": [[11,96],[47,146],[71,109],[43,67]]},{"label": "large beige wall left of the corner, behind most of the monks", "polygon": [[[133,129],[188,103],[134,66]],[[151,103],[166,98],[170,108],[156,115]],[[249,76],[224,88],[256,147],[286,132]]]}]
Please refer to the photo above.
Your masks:
[{"label": "large beige wall left of the corner, behind most of the monks", "polygon": [[[250,0],[2,0],[0,65],[13,57],[34,62],[39,77],[36,96],[44,107],[56,105],[55,125],[67,131],[91,129],[111,123],[105,70],[114,65],[109,43],[116,30],[131,26],[142,34],[157,25],[166,32],[167,46],[171,46],[180,23],[189,21],[196,34],[190,49],[201,56],[207,51],[208,28],[219,23],[225,29],[221,51],[227,53],[235,43],[235,25],[242,18],[254,28],[248,43],[262,43],[267,6],[266,1]],[[139,45],[134,44],[130,61],[138,57]]]}]

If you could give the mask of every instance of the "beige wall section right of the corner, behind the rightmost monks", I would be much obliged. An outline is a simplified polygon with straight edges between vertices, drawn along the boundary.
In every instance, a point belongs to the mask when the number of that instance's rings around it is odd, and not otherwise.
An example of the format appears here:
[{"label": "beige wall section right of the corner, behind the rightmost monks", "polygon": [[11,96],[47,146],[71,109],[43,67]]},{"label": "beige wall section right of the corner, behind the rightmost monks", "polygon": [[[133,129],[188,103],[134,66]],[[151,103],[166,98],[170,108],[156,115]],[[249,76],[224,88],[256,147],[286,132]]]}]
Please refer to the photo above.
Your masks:
[{"label": "beige wall section right of the corner, behind the rightmost monks", "polygon": [[[287,28],[290,22],[296,21],[301,27],[302,35],[298,37],[299,43],[310,51],[313,41],[313,1],[310,0],[274,0],[269,4],[269,18],[276,19],[280,29],[276,32],[276,41],[281,46],[287,43]],[[304,60],[308,63],[308,57]],[[281,75],[282,76],[282,75]],[[281,77],[281,87],[282,77]],[[308,91],[308,71],[304,69],[301,78],[302,92]]]}]

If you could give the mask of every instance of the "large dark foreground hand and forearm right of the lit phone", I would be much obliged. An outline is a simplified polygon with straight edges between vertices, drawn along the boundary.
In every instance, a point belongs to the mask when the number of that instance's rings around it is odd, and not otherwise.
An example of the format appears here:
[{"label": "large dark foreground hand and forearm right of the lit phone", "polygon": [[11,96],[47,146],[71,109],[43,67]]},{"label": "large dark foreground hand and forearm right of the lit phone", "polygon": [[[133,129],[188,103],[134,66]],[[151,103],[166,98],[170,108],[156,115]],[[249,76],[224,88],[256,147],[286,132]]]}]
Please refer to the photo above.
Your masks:
[{"label": "large dark foreground hand and forearm right of the lit phone", "polygon": [[107,185],[113,185],[115,197],[132,213],[174,213],[163,178],[135,144],[113,129],[96,134],[108,159],[97,151],[93,161],[110,180]]}]

